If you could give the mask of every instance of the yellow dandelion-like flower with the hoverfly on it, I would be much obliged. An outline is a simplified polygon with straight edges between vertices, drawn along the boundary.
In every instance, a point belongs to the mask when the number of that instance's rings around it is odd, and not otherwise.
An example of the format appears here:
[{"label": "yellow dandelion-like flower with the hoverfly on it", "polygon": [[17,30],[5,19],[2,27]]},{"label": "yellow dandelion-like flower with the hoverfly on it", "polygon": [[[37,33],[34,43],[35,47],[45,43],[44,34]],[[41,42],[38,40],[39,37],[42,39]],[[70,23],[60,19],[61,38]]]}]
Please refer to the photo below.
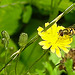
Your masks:
[{"label": "yellow dandelion-like flower with the hoverfly on it", "polygon": [[[47,27],[49,23],[45,23],[45,27]],[[39,42],[39,45],[42,45],[43,49],[49,49],[51,52],[56,53],[58,57],[61,57],[60,49],[62,49],[65,53],[68,53],[68,47],[70,47],[70,43],[72,42],[72,37],[69,35],[60,36],[59,30],[65,29],[63,26],[57,26],[57,24],[53,24],[49,29],[44,31],[42,27],[38,27],[38,35],[41,36],[43,41]]]}]

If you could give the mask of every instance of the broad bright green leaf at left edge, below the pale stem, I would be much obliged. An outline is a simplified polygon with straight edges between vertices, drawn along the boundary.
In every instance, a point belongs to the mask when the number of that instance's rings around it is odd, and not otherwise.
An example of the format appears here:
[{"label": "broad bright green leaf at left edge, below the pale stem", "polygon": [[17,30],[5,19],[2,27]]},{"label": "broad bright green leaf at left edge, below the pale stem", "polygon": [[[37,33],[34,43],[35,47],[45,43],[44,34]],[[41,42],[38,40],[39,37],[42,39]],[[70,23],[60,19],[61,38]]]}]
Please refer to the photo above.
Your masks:
[{"label": "broad bright green leaf at left edge, below the pale stem", "polygon": [[0,32],[6,30],[10,35],[16,32],[19,27],[22,7],[16,5],[0,9]]}]

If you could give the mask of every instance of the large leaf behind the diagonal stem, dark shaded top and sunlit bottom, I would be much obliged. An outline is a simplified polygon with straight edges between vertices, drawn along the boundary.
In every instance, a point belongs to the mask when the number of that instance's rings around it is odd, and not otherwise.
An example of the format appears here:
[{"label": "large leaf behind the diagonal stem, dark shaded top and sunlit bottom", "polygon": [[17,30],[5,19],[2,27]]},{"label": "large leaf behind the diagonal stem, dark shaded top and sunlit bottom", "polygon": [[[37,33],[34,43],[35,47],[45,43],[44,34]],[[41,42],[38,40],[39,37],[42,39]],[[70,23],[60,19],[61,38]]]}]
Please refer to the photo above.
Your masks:
[{"label": "large leaf behind the diagonal stem, dark shaded top and sunlit bottom", "polygon": [[[28,41],[31,40],[37,34],[37,28],[39,25],[44,25],[44,21],[31,19],[27,24],[24,32],[28,34]],[[33,44],[28,46],[21,55],[21,61],[26,66],[26,70],[43,54],[43,50],[41,46],[38,44],[39,39],[35,41]],[[45,56],[41,58],[31,69],[31,71],[35,72],[35,68],[43,68],[42,62],[45,60]],[[39,67],[38,67],[39,66]]]}]

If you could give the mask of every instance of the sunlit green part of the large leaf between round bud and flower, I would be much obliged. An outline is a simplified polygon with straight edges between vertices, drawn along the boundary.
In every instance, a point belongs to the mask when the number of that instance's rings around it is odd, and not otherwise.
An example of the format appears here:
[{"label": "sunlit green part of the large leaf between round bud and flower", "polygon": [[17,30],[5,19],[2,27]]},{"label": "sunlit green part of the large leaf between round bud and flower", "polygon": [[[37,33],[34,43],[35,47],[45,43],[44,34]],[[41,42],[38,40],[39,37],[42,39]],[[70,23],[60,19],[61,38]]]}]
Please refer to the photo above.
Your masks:
[{"label": "sunlit green part of the large leaf between round bud and flower", "polygon": [[[36,33],[32,34],[31,37],[35,36]],[[31,38],[29,37],[29,39]],[[39,40],[28,46],[25,51],[23,51],[21,55],[21,61],[25,65],[25,69],[28,69],[42,54],[43,50],[41,46],[38,45]],[[34,66],[32,67],[31,71],[35,72],[35,68],[41,69],[43,68],[42,62],[45,60],[45,57],[42,57]],[[38,67],[39,65],[39,67]]]}]

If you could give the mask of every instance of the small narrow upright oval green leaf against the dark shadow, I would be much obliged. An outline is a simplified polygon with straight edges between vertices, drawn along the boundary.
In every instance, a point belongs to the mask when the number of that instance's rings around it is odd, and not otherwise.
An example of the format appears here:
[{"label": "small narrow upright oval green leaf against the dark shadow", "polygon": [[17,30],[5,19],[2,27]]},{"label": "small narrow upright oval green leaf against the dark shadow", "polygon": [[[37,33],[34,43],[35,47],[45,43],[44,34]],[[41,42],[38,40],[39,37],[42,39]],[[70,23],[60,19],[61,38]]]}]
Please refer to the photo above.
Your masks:
[{"label": "small narrow upright oval green leaf against the dark shadow", "polygon": [[32,15],[32,7],[30,5],[25,7],[23,12],[23,22],[28,23]]}]

